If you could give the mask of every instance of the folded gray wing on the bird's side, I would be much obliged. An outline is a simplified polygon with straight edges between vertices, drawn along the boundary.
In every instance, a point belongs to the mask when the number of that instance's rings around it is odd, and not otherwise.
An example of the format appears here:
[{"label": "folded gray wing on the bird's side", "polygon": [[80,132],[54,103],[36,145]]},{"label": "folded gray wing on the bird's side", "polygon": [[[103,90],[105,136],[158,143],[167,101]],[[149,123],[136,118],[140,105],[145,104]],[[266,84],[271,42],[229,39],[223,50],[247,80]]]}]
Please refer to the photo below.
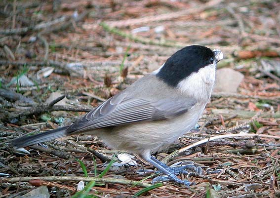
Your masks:
[{"label": "folded gray wing on the bird's side", "polygon": [[187,112],[196,104],[195,100],[188,98],[149,101],[127,95],[121,92],[108,99],[74,122],[66,131],[82,132],[131,122],[171,119]]}]

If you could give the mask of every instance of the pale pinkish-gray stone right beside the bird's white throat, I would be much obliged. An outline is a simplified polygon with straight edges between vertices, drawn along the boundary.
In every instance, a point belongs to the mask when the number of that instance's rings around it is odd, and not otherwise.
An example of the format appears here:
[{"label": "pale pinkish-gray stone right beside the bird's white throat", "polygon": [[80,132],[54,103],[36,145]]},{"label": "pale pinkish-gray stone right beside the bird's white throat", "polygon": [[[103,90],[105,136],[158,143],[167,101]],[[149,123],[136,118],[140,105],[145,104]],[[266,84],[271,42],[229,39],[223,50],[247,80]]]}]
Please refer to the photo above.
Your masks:
[{"label": "pale pinkish-gray stone right beside the bird's white throat", "polygon": [[244,75],[231,68],[222,68],[216,72],[214,91],[237,92]]}]

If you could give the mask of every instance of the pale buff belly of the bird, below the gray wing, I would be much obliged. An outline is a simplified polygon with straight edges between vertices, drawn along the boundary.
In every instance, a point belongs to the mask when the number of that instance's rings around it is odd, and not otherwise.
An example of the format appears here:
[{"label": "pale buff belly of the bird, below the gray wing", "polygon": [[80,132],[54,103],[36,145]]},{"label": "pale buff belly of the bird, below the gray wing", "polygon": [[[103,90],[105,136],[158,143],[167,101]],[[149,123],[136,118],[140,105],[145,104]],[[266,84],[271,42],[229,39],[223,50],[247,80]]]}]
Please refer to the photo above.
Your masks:
[{"label": "pale buff belly of the bird, below the gray wing", "polygon": [[[205,105],[204,105],[205,106]],[[149,150],[157,152],[192,129],[203,112],[204,106],[194,106],[189,112],[177,117],[151,122],[138,122],[112,127],[99,132],[103,142],[110,148],[141,154]]]}]

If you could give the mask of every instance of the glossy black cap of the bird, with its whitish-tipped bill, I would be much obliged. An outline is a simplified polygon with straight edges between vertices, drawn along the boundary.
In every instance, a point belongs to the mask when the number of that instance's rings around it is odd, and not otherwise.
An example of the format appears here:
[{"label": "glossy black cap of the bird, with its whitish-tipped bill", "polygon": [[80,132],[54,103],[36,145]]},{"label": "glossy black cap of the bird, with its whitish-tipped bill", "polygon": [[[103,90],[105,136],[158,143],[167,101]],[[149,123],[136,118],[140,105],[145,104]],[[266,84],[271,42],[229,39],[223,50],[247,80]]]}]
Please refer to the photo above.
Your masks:
[{"label": "glossy black cap of the bird, with its whitish-tipped bill", "polygon": [[212,51],[202,45],[186,46],[168,58],[156,76],[175,87],[182,79],[198,72],[200,68],[216,64],[221,59],[223,54],[220,50]]}]

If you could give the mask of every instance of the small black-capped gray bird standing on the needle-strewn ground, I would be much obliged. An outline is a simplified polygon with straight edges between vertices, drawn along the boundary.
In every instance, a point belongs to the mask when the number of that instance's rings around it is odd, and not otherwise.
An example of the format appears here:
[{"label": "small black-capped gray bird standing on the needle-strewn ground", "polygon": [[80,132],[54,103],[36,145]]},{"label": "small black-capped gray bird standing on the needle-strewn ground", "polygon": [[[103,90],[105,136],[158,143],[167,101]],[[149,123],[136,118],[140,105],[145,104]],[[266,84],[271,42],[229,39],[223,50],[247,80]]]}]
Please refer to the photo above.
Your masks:
[{"label": "small black-capped gray bird standing on the needle-strewn ground", "polygon": [[223,53],[218,49],[186,46],[158,70],[138,79],[73,124],[22,136],[11,143],[21,148],[80,133],[98,136],[110,148],[138,154],[166,175],[165,180],[189,186],[191,182],[176,176],[177,170],[151,154],[166,148],[196,125],[210,98],[216,65],[222,59]]}]

